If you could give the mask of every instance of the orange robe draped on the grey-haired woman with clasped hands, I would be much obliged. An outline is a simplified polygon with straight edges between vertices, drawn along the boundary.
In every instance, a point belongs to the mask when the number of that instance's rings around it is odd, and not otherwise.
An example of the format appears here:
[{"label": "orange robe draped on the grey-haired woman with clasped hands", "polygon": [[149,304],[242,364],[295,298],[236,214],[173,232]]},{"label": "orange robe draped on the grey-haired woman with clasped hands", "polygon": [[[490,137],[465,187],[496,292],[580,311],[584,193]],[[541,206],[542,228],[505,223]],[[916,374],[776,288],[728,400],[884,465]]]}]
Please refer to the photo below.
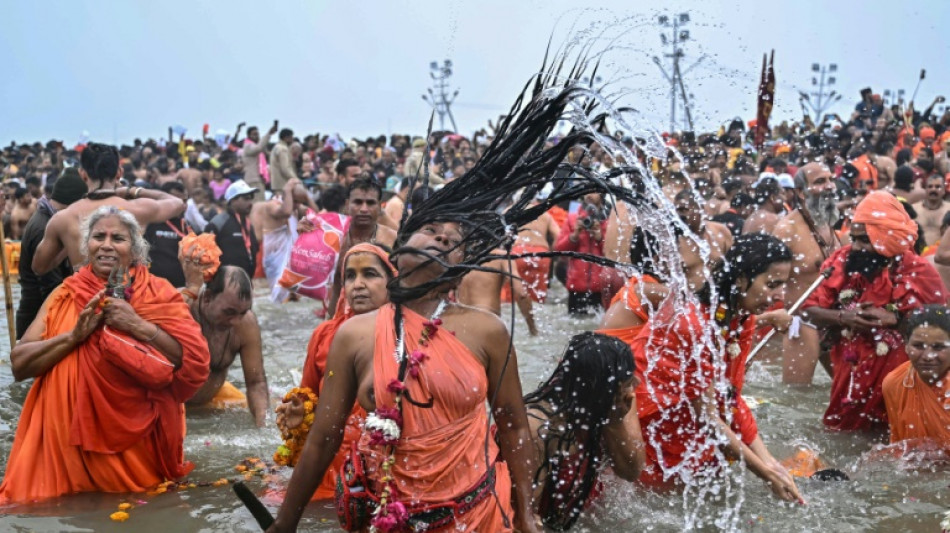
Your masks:
[{"label": "orange robe draped on the grey-haired woman with clasped hands", "polygon": [[[137,379],[101,348],[111,336],[97,328],[33,382],[0,503],[75,492],[140,492],[194,468],[184,460],[183,404],[208,378],[208,344],[170,283],[142,266],[131,274],[129,303],[181,344],[181,367],[169,367],[168,375],[154,380]],[[44,339],[71,331],[103,287],[88,266],[67,278],[50,296]]]}]

